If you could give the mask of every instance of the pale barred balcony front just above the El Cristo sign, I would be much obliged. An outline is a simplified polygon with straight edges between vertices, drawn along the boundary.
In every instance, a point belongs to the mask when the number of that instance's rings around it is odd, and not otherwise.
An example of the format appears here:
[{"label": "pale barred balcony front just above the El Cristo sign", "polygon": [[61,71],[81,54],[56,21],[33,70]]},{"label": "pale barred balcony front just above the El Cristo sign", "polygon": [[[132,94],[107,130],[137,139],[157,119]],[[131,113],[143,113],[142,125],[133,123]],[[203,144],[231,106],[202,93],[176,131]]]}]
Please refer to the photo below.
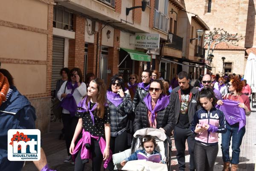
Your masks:
[{"label": "pale barred balcony front just above the El Cristo sign", "polygon": [[154,9],[154,28],[168,33],[169,18],[160,11]]}]

